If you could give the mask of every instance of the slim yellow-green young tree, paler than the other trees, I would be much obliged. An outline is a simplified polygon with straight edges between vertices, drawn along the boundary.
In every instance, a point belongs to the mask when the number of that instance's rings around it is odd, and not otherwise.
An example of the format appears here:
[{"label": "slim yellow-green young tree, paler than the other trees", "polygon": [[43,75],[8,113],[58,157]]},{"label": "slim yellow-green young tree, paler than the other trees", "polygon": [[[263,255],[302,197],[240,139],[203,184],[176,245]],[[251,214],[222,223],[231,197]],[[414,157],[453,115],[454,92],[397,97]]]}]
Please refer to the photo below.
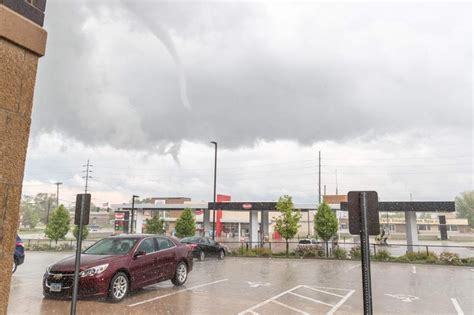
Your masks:
[{"label": "slim yellow-green young tree, paler than the other trees", "polygon": [[275,219],[275,231],[280,233],[286,241],[286,256],[289,253],[288,241],[295,237],[300,227],[298,223],[301,219],[299,210],[293,209],[293,201],[288,195],[284,195],[278,199],[276,209],[281,212],[281,215]]}]

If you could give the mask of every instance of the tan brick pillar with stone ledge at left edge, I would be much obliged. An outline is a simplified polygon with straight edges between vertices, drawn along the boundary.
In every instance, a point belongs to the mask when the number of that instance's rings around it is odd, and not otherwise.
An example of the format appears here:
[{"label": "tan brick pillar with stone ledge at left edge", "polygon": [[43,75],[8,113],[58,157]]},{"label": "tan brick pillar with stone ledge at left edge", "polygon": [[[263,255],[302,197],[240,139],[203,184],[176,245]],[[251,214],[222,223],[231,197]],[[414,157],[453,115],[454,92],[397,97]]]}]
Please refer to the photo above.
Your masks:
[{"label": "tan brick pillar with stone ledge at left edge", "polygon": [[45,5],[0,0],[0,314],[7,313]]}]

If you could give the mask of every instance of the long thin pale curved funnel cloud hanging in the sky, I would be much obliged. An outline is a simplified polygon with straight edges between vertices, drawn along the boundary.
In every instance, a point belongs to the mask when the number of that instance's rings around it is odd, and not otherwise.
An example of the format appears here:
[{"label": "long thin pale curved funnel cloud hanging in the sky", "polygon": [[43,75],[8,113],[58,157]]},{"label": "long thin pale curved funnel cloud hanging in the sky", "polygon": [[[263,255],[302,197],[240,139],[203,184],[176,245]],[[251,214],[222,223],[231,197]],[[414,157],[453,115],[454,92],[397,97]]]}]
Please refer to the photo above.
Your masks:
[{"label": "long thin pale curved funnel cloud hanging in the sky", "polygon": [[184,73],[183,64],[181,62],[181,59],[179,58],[178,52],[176,51],[176,47],[174,46],[171,36],[156,19],[151,18],[147,14],[142,13],[146,10],[141,10],[140,8],[132,5],[131,2],[123,1],[123,3],[125,7],[129,9],[129,11],[132,12],[135,17],[137,17],[138,20],[140,20],[148,28],[148,30],[163,44],[163,46],[165,46],[166,50],[173,58],[173,61],[176,65],[181,103],[185,108],[191,109],[191,104],[188,99],[186,76]]}]

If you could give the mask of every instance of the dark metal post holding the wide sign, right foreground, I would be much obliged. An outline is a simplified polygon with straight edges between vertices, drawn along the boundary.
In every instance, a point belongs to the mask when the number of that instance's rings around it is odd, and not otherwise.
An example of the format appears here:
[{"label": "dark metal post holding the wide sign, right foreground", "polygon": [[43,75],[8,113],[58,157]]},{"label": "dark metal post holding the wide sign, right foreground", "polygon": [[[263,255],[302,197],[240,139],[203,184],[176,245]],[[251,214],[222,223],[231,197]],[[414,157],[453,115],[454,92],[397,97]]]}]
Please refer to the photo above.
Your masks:
[{"label": "dark metal post holding the wide sign, right foreground", "polygon": [[361,256],[362,256],[362,291],[364,297],[364,314],[372,315],[372,288],[370,278],[370,248],[369,248],[369,234],[367,230],[367,199],[366,193],[360,194],[361,200]]}]

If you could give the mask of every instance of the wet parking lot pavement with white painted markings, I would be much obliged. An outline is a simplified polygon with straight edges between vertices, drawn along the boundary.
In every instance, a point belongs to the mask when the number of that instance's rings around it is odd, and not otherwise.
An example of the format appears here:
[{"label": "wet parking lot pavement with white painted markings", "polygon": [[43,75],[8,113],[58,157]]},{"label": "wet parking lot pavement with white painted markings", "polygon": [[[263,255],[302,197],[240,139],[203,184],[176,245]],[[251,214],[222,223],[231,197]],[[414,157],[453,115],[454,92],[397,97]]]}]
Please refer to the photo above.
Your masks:
[{"label": "wet parking lot pavement with white painted markings", "polygon": [[[70,253],[27,252],[13,275],[9,314],[68,314],[43,299],[45,268]],[[372,263],[375,314],[474,314],[474,269]],[[360,262],[230,258],[195,261],[187,283],[133,292],[119,304],[80,300],[78,314],[361,314]]]}]

